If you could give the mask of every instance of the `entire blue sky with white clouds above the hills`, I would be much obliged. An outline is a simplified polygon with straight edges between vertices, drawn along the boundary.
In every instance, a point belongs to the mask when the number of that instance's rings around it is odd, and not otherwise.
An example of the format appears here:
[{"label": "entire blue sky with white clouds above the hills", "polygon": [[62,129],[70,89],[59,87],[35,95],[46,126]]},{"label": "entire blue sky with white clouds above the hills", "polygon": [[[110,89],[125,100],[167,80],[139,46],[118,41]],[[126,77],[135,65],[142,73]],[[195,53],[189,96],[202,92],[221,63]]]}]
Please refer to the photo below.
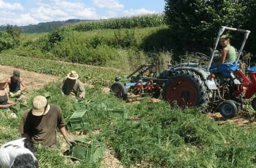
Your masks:
[{"label": "entire blue sky with white clouds above the hills", "polygon": [[0,25],[162,13],[164,5],[164,0],[0,0]]}]

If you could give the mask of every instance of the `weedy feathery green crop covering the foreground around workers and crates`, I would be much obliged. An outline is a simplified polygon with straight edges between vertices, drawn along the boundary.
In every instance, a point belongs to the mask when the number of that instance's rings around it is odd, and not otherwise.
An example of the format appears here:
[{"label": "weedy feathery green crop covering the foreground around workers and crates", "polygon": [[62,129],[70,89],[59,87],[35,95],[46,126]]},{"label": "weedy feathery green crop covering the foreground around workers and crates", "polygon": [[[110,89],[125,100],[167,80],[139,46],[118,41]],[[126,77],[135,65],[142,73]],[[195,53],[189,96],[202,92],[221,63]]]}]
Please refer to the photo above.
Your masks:
[{"label": "weedy feathery green crop covering the foreground around workers and crates", "polygon": [[[86,104],[62,96],[60,82],[51,82],[38,90],[27,92],[28,105],[33,97],[48,93],[50,104],[59,105],[67,122],[67,130],[75,134],[69,117],[76,110],[87,109]],[[109,117],[106,111],[89,111],[89,125],[83,129],[88,138],[104,142],[113,149],[126,167],[255,167],[255,126],[220,124],[209,119],[196,108],[170,108],[163,101],[151,103],[143,98],[138,104],[127,104],[115,95],[102,92],[101,85],[86,87],[86,98],[103,102],[107,109],[128,109],[130,118],[143,119],[138,124],[125,123]],[[0,113],[0,143],[17,139],[20,118],[12,119],[9,112]],[[95,133],[97,130],[98,133]],[[64,140],[60,136],[58,148],[38,146],[36,157],[40,167],[101,167],[99,163],[72,161],[63,156]]]}]

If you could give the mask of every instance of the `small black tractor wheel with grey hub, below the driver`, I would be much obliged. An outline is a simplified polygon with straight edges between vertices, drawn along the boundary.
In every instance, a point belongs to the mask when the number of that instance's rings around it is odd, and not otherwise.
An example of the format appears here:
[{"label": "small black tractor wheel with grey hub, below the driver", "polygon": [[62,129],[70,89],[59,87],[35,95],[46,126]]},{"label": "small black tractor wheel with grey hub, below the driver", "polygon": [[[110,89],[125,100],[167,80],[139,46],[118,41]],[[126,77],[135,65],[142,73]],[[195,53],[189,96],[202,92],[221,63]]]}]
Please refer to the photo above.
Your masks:
[{"label": "small black tractor wheel with grey hub, below the driver", "polygon": [[238,108],[234,100],[225,100],[219,106],[220,114],[227,118],[232,118],[238,114]]}]

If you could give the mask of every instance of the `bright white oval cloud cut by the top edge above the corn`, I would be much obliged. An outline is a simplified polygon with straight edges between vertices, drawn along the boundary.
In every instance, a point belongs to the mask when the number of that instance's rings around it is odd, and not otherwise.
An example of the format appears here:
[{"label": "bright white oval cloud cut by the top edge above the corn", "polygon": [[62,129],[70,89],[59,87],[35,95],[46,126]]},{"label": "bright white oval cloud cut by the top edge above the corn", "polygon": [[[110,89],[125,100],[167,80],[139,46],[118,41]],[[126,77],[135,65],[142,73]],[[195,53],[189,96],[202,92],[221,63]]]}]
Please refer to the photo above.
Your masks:
[{"label": "bright white oval cloud cut by the top edge above the corn", "polygon": [[124,8],[123,4],[115,0],[93,0],[93,3],[98,8],[120,10]]}]

